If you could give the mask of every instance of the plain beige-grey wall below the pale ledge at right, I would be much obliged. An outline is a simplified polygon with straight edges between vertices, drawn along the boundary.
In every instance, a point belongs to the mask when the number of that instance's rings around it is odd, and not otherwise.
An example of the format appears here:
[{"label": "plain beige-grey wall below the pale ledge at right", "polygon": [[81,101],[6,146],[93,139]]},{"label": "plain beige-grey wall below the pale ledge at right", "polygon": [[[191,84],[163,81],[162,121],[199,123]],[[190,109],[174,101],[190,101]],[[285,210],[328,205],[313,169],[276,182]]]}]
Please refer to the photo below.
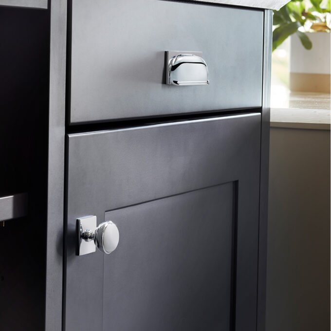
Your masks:
[{"label": "plain beige-grey wall below the pale ledge at right", "polygon": [[267,331],[330,331],[330,130],[270,133]]}]

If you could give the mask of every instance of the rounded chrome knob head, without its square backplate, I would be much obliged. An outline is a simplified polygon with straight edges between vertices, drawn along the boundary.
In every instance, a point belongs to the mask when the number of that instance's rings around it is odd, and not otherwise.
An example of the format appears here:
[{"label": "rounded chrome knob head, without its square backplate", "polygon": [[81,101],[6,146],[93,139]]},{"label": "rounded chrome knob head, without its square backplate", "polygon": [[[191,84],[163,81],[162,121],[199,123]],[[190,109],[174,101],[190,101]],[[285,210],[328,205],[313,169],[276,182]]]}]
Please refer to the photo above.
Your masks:
[{"label": "rounded chrome knob head, without its square backplate", "polygon": [[94,231],[93,239],[99,251],[110,254],[116,249],[120,234],[116,224],[112,221],[107,221],[97,226]]}]

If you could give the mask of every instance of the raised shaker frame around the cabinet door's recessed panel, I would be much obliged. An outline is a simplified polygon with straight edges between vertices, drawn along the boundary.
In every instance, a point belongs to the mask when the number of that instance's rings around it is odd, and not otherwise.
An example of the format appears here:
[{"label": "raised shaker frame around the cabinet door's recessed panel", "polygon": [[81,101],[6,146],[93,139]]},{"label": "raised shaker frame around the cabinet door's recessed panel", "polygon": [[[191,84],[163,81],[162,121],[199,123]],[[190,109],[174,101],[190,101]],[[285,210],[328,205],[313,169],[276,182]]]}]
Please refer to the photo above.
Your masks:
[{"label": "raised shaker frame around the cabinet door's recessed panel", "polygon": [[75,256],[77,218],[235,181],[236,330],[256,330],[260,114],[68,138],[66,331],[102,330],[104,256]]}]

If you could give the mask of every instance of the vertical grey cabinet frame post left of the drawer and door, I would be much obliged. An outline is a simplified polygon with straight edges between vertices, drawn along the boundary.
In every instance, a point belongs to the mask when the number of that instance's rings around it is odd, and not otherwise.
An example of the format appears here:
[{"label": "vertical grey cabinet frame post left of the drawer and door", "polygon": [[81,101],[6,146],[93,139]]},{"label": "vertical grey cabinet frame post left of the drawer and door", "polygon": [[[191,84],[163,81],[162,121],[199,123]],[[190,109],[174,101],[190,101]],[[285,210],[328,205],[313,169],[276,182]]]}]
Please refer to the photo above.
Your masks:
[{"label": "vertical grey cabinet frame post left of the drawer and door", "polygon": [[62,328],[67,1],[52,0],[47,168],[45,330]]}]

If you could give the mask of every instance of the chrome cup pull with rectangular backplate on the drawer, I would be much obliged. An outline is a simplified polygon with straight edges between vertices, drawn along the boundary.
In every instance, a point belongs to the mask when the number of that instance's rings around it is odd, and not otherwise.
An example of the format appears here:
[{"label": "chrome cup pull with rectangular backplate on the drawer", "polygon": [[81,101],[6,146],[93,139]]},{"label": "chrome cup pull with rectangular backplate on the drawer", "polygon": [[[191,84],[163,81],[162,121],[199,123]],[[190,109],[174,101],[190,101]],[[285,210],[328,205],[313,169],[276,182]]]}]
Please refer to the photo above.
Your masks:
[{"label": "chrome cup pull with rectangular backplate on the drawer", "polygon": [[168,85],[209,85],[208,67],[202,52],[167,51],[166,54]]}]

